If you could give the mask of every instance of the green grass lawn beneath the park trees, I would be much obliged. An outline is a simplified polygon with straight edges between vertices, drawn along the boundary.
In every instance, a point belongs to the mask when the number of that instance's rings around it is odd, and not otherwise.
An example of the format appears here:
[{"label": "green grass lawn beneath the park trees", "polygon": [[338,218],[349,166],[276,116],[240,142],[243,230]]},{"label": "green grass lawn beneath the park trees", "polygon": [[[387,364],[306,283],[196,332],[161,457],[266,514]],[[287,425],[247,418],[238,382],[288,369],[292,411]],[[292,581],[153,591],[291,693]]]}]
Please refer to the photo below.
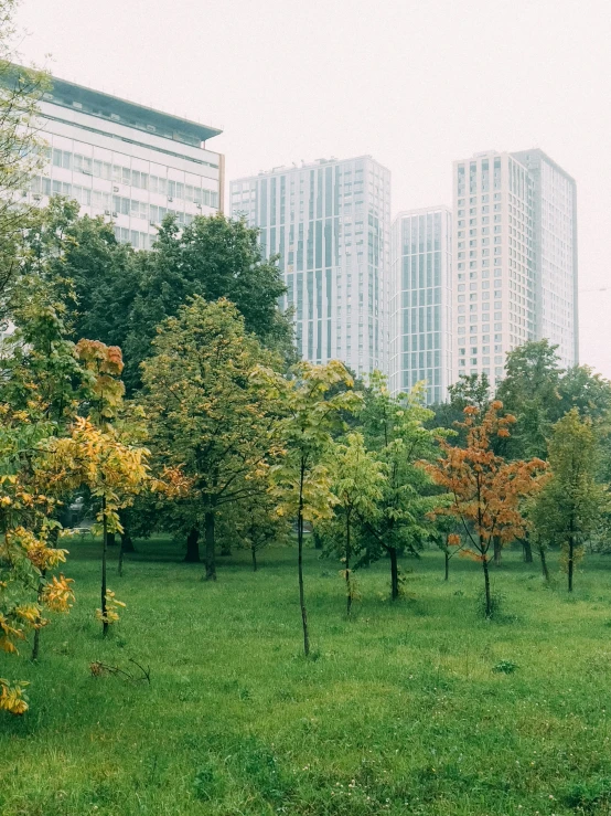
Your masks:
[{"label": "green grass lawn beneath the park trees", "polygon": [[[296,552],[218,582],[141,542],[109,584],[128,607],[107,640],[97,544],[74,543],[77,603],[43,632],[31,711],[0,717],[2,816],[611,814],[611,559],[587,557],[568,597],[504,554],[497,622],[478,613],[478,564],[405,561],[358,575],[347,621],[339,566],[307,553],[313,658],[301,656]],[[557,563],[551,559],[553,571]],[[93,677],[103,660],[151,683]]]}]

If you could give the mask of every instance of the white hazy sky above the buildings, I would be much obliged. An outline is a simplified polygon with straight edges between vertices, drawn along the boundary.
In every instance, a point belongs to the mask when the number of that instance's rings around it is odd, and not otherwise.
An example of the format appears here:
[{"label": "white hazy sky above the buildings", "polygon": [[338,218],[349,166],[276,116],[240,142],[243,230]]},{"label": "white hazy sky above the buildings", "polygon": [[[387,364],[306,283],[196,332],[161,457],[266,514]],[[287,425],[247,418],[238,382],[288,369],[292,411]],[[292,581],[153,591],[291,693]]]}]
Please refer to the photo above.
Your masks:
[{"label": "white hazy sky above the buildings", "polygon": [[610,0],[22,0],[18,22],[25,61],[222,127],[228,179],[371,153],[397,212],[450,204],[454,159],[540,147],[577,179],[580,361],[611,378]]}]

